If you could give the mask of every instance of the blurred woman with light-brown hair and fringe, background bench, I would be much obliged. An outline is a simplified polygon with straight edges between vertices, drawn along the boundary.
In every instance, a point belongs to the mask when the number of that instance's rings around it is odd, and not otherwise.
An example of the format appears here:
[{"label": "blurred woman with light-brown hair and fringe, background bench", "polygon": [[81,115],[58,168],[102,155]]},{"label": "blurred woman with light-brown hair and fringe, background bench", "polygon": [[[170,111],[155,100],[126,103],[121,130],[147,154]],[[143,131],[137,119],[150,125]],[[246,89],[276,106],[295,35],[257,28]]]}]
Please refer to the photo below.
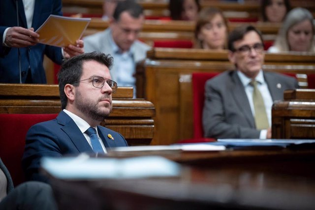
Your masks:
[{"label": "blurred woman with light-brown hair and fringe, background bench", "polygon": [[196,21],[195,48],[222,50],[226,48],[227,21],[216,7],[201,10]]}]

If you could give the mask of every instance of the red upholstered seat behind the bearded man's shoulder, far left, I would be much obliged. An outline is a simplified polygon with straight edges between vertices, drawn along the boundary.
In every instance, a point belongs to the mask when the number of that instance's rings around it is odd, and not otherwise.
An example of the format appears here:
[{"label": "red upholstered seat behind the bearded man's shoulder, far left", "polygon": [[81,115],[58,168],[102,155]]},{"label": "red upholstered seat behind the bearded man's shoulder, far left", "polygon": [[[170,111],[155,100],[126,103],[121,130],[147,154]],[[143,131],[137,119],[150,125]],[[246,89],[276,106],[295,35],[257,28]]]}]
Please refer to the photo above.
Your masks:
[{"label": "red upholstered seat behind the bearded man's shoulder, far left", "polygon": [[21,160],[29,128],[52,120],[58,114],[0,114],[0,157],[9,170],[14,185],[24,181]]}]

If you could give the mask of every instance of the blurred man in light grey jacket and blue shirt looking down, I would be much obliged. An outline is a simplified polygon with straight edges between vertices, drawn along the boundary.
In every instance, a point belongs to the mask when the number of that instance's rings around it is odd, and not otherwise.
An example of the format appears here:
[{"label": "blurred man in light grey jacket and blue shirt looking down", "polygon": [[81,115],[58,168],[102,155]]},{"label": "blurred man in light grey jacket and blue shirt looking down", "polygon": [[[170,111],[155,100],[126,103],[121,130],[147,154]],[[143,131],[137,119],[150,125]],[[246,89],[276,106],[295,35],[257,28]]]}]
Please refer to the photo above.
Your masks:
[{"label": "blurred man in light grey jacket and blue shirt looking down", "polygon": [[119,1],[108,29],[84,38],[85,52],[102,52],[114,58],[111,77],[119,86],[133,87],[135,66],[146,58],[149,45],[137,40],[144,23],[143,8],[134,0]]}]

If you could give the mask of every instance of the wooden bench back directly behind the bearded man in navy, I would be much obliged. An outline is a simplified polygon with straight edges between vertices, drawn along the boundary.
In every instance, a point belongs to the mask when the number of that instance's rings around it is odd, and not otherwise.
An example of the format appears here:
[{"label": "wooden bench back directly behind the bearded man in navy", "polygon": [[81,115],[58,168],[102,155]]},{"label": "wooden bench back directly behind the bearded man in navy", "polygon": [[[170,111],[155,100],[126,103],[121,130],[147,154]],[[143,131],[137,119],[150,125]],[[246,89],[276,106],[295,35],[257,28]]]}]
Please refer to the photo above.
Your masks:
[{"label": "wooden bench back directly behind the bearded man in navy", "polygon": [[[132,88],[113,93],[113,111],[101,123],[120,132],[129,145],[149,145],[154,135],[154,105],[133,99]],[[52,114],[61,111],[58,85],[0,84],[0,113]]]}]

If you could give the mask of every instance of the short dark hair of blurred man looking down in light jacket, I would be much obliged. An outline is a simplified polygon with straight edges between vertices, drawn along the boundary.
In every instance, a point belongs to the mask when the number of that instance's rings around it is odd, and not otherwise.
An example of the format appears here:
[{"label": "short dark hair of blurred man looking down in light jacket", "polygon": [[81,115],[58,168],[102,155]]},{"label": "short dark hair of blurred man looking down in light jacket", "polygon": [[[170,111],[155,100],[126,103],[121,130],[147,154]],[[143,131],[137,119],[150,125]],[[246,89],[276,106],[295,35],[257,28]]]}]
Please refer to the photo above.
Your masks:
[{"label": "short dark hair of blurred man looking down in light jacket", "polygon": [[116,21],[119,21],[120,15],[125,11],[127,11],[134,18],[139,18],[140,15],[143,14],[142,6],[135,2],[135,0],[124,0],[118,1],[113,18]]}]

